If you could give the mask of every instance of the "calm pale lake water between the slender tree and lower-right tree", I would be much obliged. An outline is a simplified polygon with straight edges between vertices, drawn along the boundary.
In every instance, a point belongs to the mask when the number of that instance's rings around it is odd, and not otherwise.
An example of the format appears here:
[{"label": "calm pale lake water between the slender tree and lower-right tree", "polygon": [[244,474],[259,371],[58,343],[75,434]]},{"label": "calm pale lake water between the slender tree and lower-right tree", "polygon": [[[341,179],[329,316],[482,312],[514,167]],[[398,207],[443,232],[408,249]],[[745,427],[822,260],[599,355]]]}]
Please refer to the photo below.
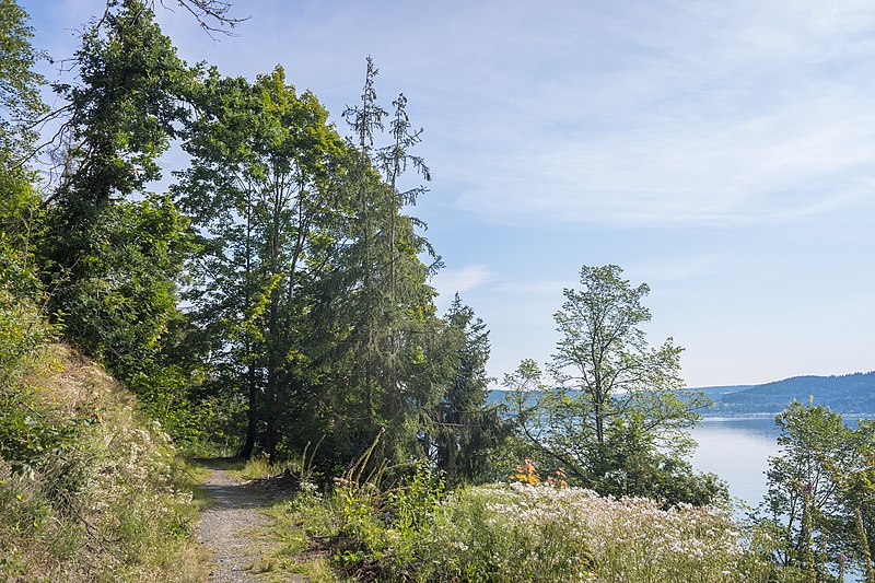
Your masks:
[{"label": "calm pale lake water between the slender tree and lower-right tree", "polygon": [[766,494],[768,458],[779,453],[774,418],[705,418],[692,436],[699,442],[693,467],[726,480],[730,495],[751,506],[759,504]]}]

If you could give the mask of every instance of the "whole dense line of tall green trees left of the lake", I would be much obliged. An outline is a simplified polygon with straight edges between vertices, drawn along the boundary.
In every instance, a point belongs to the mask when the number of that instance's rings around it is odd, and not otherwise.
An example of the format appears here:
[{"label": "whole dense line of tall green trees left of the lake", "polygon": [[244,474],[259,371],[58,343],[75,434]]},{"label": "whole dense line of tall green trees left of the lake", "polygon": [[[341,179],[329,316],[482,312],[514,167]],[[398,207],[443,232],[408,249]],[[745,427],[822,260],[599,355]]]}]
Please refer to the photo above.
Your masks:
[{"label": "whole dense line of tall green trees left of the lake", "polygon": [[[277,459],[318,442],[332,471],[383,433],[392,464],[482,471],[503,431],[488,331],[458,298],[436,313],[441,259],[409,213],[430,180],[421,130],[402,94],[384,108],[370,59],[343,136],[282,67],[189,66],[151,5],[112,1],[49,112],[26,14],[3,15],[4,292],[183,443]],[[151,193],[173,143],[190,162]],[[50,173],[28,170],[39,155]]]}]

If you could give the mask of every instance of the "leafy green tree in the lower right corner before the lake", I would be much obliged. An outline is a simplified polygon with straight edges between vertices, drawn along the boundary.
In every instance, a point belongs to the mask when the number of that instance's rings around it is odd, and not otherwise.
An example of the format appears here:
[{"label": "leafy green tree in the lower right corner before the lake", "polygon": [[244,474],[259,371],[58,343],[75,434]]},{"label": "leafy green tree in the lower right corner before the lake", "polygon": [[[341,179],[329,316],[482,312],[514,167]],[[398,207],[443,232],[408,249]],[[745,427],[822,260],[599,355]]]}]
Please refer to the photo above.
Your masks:
[{"label": "leafy green tree in the lower right corner before the lake", "polygon": [[757,514],[778,541],[772,560],[786,576],[804,576],[838,570],[847,557],[872,579],[875,423],[854,429],[826,407],[795,401],[775,423],[781,454],[769,459]]}]

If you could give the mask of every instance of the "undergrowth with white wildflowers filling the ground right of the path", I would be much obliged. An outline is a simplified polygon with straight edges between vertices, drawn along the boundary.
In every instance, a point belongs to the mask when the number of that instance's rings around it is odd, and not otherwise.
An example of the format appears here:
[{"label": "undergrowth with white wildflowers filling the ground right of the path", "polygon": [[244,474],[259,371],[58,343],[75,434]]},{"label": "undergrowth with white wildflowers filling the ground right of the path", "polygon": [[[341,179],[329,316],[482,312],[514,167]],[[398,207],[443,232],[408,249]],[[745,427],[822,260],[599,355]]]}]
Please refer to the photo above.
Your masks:
[{"label": "undergrowth with white wildflowers filling the ground right of the path", "polygon": [[424,464],[380,488],[366,456],[330,491],[303,481],[270,511],[279,550],[267,580],[769,581],[762,549],[725,510],[602,498],[561,475],[534,480],[529,465],[516,481],[452,492]]}]

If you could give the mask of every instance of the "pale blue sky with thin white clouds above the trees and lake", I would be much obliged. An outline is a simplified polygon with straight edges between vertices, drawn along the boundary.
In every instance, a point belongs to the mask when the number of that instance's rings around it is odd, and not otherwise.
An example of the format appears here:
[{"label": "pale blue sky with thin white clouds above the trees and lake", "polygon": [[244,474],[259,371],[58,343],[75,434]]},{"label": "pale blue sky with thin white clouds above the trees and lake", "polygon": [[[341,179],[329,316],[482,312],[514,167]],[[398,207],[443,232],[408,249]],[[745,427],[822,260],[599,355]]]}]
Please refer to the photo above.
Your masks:
[{"label": "pale blue sky with thin white clouds above the trees and lake", "polygon": [[[104,5],[19,1],[56,60]],[[486,322],[498,382],[550,359],[563,288],[608,264],[650,284],[689,386],[875,369],[875,3],[233,3],[235,36],[156,14],[189,63],[282,65],[342,131],[369,55],[407,96],[439,307]]]}]

